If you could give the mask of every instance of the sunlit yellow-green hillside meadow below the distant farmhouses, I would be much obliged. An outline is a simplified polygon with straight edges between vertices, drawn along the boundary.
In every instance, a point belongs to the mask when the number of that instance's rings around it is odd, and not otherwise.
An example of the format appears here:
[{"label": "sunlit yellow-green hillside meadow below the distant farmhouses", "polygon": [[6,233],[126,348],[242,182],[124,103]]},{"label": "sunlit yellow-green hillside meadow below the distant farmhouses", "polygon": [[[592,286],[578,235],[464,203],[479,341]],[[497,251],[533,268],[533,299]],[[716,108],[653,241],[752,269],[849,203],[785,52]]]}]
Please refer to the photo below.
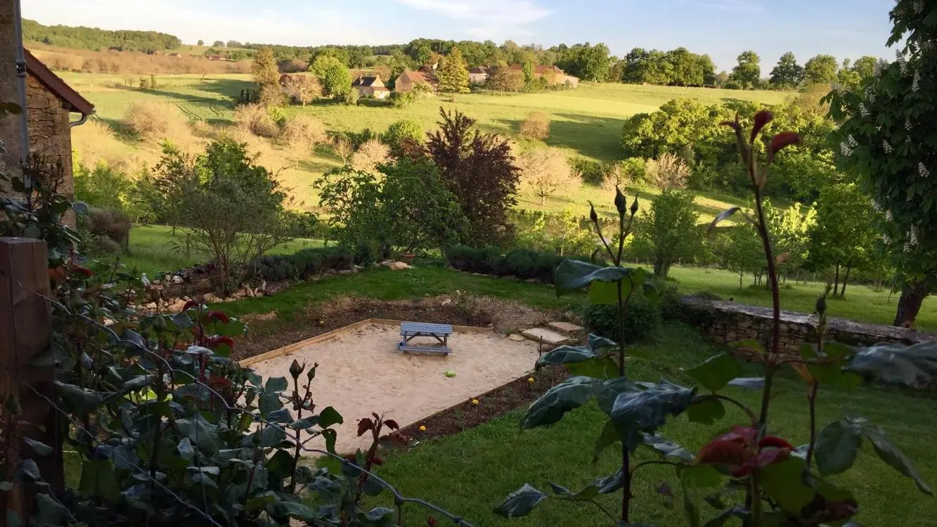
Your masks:
[{"label": "sunlit yellow-green hillside meadow below the distant farmhouses", "polygon": [[[101,123],[117,131],[117,134],[109,136],[103,134],[97,125],[75,128],[72,134],[80,157],[90,164],[98,159],[110,162],[128,160],[128,164],[135,167],[152,166],[158,159],[159,148],[156,142],[141,141],[127,133],[122,120],[132,104],[164,103],[178,112],[182,119],[227,126],[233,117],[233,97],[253,85],[249,75],[166,75],[156,76],[156,90],[140,90],[124,86],[123,77],[118,75],[62,72],[61,76],[96,105],[97,119]],[[388,125],[401,119],[417,121],[426,130],[435,129],[441,107],[464,111],[478,121],[483,131],[498,132],[517,139],[521,121],[530,111],[538,110],[549,114],[552,120],[551,136],[546,139],[546,144],[561,148],[570,155],[613,161],[622,157],[619,139],[624,120],[635,113],[656,110],[672,98],[695,97],[707,103],[744,99],[774,104],[782,102],[787,96],[782,92],[583,83],[576,90],[543,94],[445,95],[421,101],[406,109],[384,105],[349,107],[321,102],[305,108],[293,106],[287,113],[315,116],[333,131],[371,128],[382,132]],[[171,139],[193,149],[200,149],[205,142],[199,133],[176,134]],[[518,142],[523,147],[530,145],[524,139],[518,139]],[[260,162],[264,166],[277,171],[280,180],[305,205],[318,203],[310,184],[323,171],[339,165],[338,158],[328,149],[296,154],[264,139],[253,140],[249,146],[260,154]],[[656,189],[641,189],[641,192],[649,198],[656,193]],[[585,213],[588,200],[599,204],[600,212],[612,212],[612,195],[594,185],[583,185],[575,194],[550,198],[544,206],[539,198],[522,194],[518,206],[554,212],[572,207]],[[736,198],[722,196],[701,195],[697,198],[704,220],[714,212],[736,204],[736,201]],[[644,202],[647,204],[647,199]]]}]

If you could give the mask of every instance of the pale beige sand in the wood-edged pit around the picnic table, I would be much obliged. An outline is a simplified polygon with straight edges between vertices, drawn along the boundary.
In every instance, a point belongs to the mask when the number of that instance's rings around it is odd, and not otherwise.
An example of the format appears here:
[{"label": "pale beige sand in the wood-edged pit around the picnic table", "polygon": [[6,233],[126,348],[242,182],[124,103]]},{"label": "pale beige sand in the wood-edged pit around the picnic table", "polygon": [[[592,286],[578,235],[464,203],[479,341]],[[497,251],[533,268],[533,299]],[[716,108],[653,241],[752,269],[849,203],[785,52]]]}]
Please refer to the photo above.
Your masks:
[{"label": "pale beige sand in the wood-edged pit around the picnic table", "polygon": [[[369,434],[359,438],[356,433],[358,420],[371,412],[405,427],[530,372],[538,356],[537,344],[493,332],[454,333],[448,357],[401,353],[396,349],[399,341],[399,327],[369,324],[250,368],[264,378],[289,377],[293,359],[318,362],[313,401],[320,409],[334,406],[345,418],[337,427],[335,448],[348,453],[370,445]],[[414,344],[431,341],[417,339]],[[455,376],[447,377],[446,371]]]}]

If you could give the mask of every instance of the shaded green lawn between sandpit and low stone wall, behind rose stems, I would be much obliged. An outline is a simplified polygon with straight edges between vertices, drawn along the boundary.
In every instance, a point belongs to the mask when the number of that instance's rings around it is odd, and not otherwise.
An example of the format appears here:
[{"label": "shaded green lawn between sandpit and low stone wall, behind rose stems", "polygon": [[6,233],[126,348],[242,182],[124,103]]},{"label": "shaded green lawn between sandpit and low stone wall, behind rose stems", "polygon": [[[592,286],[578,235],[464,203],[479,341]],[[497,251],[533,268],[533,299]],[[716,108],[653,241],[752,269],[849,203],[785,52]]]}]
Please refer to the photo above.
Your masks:
[{"label": "shaded green lawn between sandpit and low stone wall, behind rose stems", "polygon": [[[635,379],[656,381],[661,377],[691,384],[684,367],[706,359],[719,348],[701,340],[696,329],[681,324],[668,325],[655,339],[631,351],[629,375]],[[531,365],[532,366],[532,365]],[[323,365],[322,367],[327,367]],[[729,395],[757,407],[759,394],[732,388]],[[808,413],[802,382],[791,375],[776,381],[771,403],[770,431],[792,440],[795,445],[808,441]],[[484,401],[481,401],[484,404]],[[846,392],[822,389],[817,408],[821,424],[850,416],[869,417],[882,426],[931,484],[937,482],[937,458],[931,438],[937,422],[925,416],[937,412],[932,394],[917,395],[886,388],[858,388]],[[544,429],[521,432],[520,417],[515,411],[478,428],[436,440],[424,441],[405,454],[385,456],[379,475],[407,496],[417,496],[460,515],[477,527],[495,526],[585,526],[611,525],[594,505],[548,501],[526,519],[504,520],[492,513],[504,497],[524,483],[550,492],[550,483],[578,489],[594,477],[613,474],[620,460],[620,449],[609,448],[597,464],[592,464],[592,446],[606,417],[589,404],[568,414],[558,424]],[[393,417],[388,416],[388,417]],[[744,423],[738,410],[728,410],[721,423],[703,426],[677,417],[662,428],[662,434],[681,445],[696,450],[724,427]],[[638,461],[652,459],[646,452]],[[855,520],[864,525],[933,525],[937,500],[915,490],[911,479],[900,476],[864,445],[855,466],[842,476],[832,478],[842,487],[855,491],[860,504]],[[656,492],[663,481],[670,481],[681,499],[679,485],[668,467],[642,469],[632,488],[632,521],[659,526],[685,525],[679,507],[665,506]],[[620,494],[603,496],[600,503],[615,511]],[[375,505],[391,506],[386,497]],[[677,502],[679,503],[679,502]],[[370,505],[370,504],[369,504]],[[707,517],[715,510],[702,504]],[[405,509],[409,525],[418,525],[427,512],[416,505]],[[928,520],[930,518],[930,520]],[[445,524],[442,519],[440,525]],[[733,523],[734,524],[734,523]]]}]

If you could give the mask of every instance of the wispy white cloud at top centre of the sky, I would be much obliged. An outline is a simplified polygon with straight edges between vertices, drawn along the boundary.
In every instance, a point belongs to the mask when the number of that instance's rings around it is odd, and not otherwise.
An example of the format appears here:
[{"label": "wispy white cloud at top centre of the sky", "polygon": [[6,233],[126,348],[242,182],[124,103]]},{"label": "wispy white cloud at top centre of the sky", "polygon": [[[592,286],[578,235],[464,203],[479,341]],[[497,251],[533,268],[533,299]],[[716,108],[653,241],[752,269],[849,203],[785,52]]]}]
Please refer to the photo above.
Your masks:
[{"label": "wispy white cloud at top centre of the sky", "polygon": [[529,0],[396,0],[405,6],[466,22],[469,37],[499,40],[533,35],[529,24],[552,11]]}]

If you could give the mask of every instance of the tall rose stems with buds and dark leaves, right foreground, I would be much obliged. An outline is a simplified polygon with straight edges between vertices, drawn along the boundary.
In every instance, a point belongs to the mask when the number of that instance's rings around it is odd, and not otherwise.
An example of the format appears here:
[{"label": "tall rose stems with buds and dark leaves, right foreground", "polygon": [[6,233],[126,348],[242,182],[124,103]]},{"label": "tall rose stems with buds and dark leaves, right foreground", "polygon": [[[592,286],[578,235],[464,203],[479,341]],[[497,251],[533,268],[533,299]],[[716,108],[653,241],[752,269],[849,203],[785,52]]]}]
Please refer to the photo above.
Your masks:
[{"label": "tall rose stems with buds and dark leaves, right foreground", "polygon": [[[620,514],[613,515],[602,509],[619,526],[636,525],[631,519],[632,480],[642,468],[652,464],[671,466],[675,470],[682,494],[682,509],[690,525],[701,524],[700,505],[704,498],[721,509],[716,520],[707,525],[722,525],[730,518],[742,520],[752,526],[819,526],[841,525],[858,510],[855,495],[840,489],[828,477],[848,470],[854,463],[862,440],[867,440],[876,454],[902,475],[915,481],[919,490],[932,495],[912,461],[900,452],[885,431],[862,417],[846,417],[834,421],[818,432],[815,418],[816,398],[821,384],[855,387],[860,375],[877,376],[885,382],[915,386],[921,377],[933,379],[930,367],[937,360],[937,347],[932,344],[877,346],[854,350],[848,346],[825,341],[825,295],[817,302],[820,315],[816,345],[805,344],[800,357],[781,354],[780,291],[778,287],[778,261],[773,254],[766,214],[762,207],[762,193],[768,177],[768,168],[775,154],[796,144],[799,138],[791,132],[782,132],[766,146],[767,160],[759,164],[755,148],[759,133],[771,121],[770,112],[761,111],[754,116],[751,134],[736,116],[727,122],[736,132],[737,148],[745,166],[754,194],[756,214],[745,214],[745,220],[757,230],[763,243],[767,279],[772,291],[774,321],[770,344],[758,341],[734,344],[748,350],[753,361],[764,367],[764,377],[743,377],[744,369],[734,354],[721,353],[706,359],[688,370],[697,386],[682,387],[666,380],[659,383],[638,382],[625,373],[625,331],[623,321],[629,300],[635,293],[655,294],[653,285],[646,284],[645,272],[620,267],[621,243],[628,236],[635,200],[628,218],[625,198],[617,193],[619,216],[617,254],[606,242],[595,212],[592,217],[606,249],[614,262],[613,267],[599,267],[585,262],[565,260],[558,267],[556,284],[558,294],[588,288],[593,304],[617,304],[619,316],[618,344],[601,337],[590,336],[587,346],[560,346],[537,360],[537,367],[562,364],[573,374],[568,381],[547,391],[532,403],[521,420],[521,427],[535,428],[558,422],[568,412],[579,408],[593,398],[608,421],[596,441],[593,459],[608,446],[621,444],[621,467],[617,473],[597,478],[580,490],[568,490],[555,484],[557,499],[581,501],[598,505],[594,500],[602,494],[621,491]],[[713,222],[738,212],[738,208],[721,213]],[[626,226],[626,223],[628,227]],[[613,238],[613,241],[615,238]],[[790,366],[805,381],[808,408],[811,414],[810,442],[794,446],[785,438],[772,433],[769,405],[775,376],[781,368]],[[762,400],[757,410],[728,395],[727,386],[761,390]],[[729,432],[717,434],[695,454],[658,435],[658,429],[667,417],[686,413],[694,423],[713,424],[725,417],[724,404],[742,409],[747,421],[731,426]],[[724,429],[723,429],[724,430]],[[632,465],[632,454],[639,447],[656,452],[657,461],[642,461]],[[670,486],[662,490],[672,495]],[[740,495],[744,499],[733,504]],[[510,494],[495,509],[505,517],[525,516],[534,506],[547,499],[547,495],[530,485],[524,485]],[[598,505],[601,508],[601,505]]]}]

